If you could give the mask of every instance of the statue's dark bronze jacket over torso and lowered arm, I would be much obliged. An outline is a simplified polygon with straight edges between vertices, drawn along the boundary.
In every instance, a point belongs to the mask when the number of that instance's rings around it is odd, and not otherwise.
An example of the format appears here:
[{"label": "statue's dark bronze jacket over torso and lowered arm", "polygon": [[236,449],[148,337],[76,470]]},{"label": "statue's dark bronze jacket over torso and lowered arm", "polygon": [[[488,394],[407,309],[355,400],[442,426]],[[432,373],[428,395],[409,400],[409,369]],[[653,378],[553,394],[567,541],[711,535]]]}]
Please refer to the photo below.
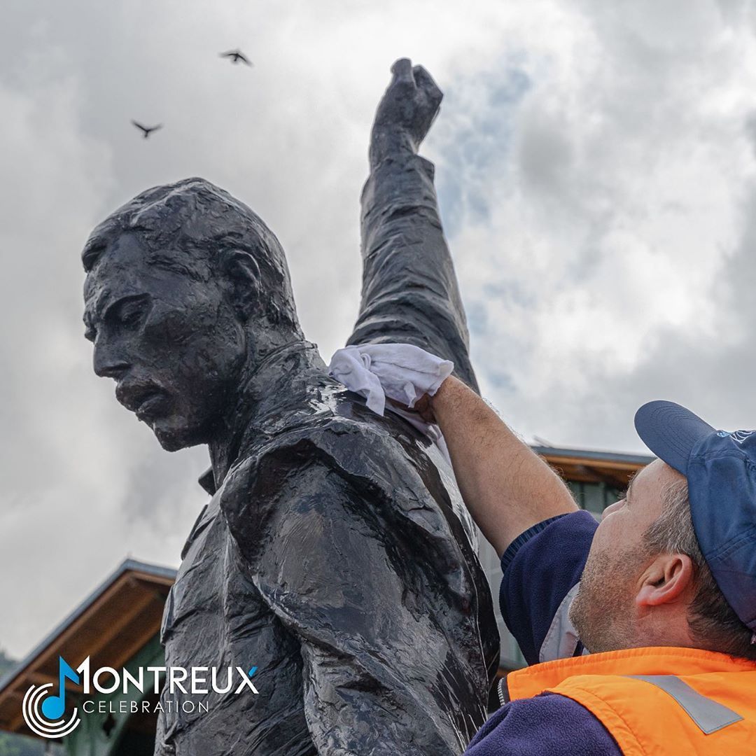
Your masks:
[{"label": "statue's dark bronze jacket over torso and lowered arm", "polygon": [[451,468],[321,370],[295,383],[197,519],[163,619],[166,665],[256,667],[259,692],[165,686],[156,753],[458,754],[498,640]]}]

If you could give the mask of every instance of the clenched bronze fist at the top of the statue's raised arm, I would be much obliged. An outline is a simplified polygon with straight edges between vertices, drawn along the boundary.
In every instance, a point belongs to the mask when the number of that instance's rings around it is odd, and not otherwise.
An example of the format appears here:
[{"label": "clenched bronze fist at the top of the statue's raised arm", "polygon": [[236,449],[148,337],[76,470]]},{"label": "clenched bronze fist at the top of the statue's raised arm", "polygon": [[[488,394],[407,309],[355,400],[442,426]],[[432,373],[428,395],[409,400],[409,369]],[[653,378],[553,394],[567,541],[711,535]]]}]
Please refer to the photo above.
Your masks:
[{"label": "clenched bronze fist at the top of the statue's raised arm", "polygon": [[370,167],[397,151],[417,153],[438,113],[442,91],[422,66],[409,58],[391,67],[393,78],[378,105],[370,138]]}]

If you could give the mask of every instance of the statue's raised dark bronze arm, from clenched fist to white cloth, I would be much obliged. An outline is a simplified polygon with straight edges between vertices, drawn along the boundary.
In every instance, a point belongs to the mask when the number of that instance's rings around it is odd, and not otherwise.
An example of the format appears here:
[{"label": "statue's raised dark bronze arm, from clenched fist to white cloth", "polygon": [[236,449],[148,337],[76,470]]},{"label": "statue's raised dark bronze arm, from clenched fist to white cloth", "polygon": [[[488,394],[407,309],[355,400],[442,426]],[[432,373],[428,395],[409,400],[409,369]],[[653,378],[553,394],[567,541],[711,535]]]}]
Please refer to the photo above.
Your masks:
[{"label": "statue's raised dark bronze arm, from clenched fist to white cloth", "polygon": [[348,344],[407,342],[454,362],[477,390],[454,265],[433,187],[417,154],[442,92],[423,67],[397,60],[370,138],[362,192],[362,299]]}]

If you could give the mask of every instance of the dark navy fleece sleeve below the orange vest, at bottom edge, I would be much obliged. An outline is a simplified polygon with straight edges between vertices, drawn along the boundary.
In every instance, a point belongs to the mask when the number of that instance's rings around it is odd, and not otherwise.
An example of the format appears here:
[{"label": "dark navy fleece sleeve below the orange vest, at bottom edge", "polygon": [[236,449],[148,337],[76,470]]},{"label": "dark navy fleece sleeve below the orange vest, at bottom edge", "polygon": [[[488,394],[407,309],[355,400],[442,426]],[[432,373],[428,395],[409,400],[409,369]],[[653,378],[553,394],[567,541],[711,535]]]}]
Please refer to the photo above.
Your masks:
[{"label": "dark navy fleece sleeve below the orange vest, at bottom edge", "polygon": [[466,756],[622,756],[606,727],[556,693],[502,706],[472,739]]}]

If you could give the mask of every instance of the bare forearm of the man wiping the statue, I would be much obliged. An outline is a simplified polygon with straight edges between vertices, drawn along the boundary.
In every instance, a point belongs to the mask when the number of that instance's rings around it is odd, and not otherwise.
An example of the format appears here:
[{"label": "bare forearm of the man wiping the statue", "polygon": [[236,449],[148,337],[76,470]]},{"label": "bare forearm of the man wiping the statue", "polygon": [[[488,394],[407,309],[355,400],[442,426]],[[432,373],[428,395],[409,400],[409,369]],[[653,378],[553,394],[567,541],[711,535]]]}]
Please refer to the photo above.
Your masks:
[{"label": "bare forearm of the man wiping the statue", "polygon": [[499,556],[532,525],[578,510],[556,472],[462,381],[447,378],[429,407],[472,519]]}]

